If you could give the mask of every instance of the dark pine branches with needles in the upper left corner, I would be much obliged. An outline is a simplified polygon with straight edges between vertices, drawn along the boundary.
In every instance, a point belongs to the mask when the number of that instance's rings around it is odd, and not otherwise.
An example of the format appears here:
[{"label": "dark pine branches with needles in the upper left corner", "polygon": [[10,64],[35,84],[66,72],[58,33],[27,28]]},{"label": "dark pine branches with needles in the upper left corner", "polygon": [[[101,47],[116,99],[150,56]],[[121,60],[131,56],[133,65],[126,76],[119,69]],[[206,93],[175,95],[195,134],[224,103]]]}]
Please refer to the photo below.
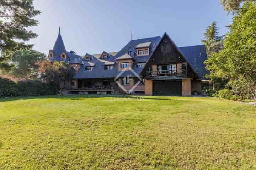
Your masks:
[{"label": "dark pine branches with needles in the upper left corner", "polygon": [[33,47],[16,40],[28,41],[38,36],[26,28],[38,24],[32,18],[40,13],[34,9],[33,0],[0,0],[0,62],[10,59],[17,50]]}]

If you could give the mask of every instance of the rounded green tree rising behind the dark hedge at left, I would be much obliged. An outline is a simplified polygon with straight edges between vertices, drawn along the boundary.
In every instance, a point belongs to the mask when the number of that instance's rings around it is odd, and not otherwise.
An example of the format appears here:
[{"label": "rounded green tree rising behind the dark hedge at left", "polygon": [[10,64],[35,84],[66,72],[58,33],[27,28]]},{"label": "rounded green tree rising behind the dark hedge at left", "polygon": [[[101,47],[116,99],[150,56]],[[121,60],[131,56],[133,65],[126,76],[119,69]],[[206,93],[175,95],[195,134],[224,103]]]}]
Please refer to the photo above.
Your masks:
[{"label": "rounded green tree rising behind the dark hedge at left", "polygon": [[39,70],[39,62],[46,60],[44,53],[35,50],[20,50],[11,58],[14,66],[11,74],[19,79],[34,77]]}]

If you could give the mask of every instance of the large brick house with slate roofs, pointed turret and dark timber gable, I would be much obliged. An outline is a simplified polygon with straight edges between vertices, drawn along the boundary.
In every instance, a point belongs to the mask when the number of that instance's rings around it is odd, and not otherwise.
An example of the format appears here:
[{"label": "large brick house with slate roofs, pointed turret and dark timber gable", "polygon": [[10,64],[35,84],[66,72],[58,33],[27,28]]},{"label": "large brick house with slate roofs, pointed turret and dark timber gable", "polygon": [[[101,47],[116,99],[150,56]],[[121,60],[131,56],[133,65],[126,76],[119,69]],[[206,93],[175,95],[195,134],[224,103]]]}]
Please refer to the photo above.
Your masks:
[{"label": "large brick house with slate roofs, pointed turret and dark timber gable", "polygon": [[80,56],[66,51],[59,32],[48,58],[52,63],[65,61],[74,67],[74,79],[63,86],[79,94],[189,96],[201,93],[207,74],[205,46],[177,47],[167,33],[131,40],[119,52]]}]

